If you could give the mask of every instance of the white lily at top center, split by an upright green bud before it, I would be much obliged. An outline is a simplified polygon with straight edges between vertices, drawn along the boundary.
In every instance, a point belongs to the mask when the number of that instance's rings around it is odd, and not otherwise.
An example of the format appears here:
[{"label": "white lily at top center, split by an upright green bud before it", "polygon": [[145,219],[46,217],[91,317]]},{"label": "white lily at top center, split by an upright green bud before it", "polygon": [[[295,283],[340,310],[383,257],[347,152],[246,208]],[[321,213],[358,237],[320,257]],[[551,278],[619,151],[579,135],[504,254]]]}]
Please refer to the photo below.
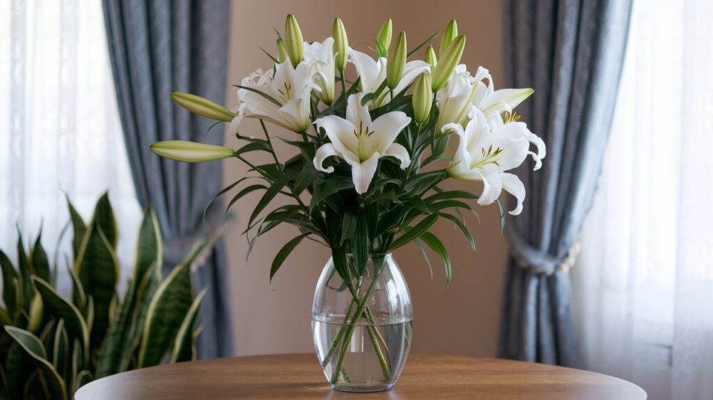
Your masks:
[{"label": "white lily at top center, split by an upright green bud before it", "polygon": [[[381,83],[386,80],[386,63],[388,61],[384,57],[374,60],[366,53],[356,51],[349,48],[349,62],[354,64],[356,75],[360,78],[361,91],[363,93],[374,93]],[[425,61],[409,61],[404,66],[404,71],[401,73],[401,80],[394,88],[394,95],[401,93],[422,73],[431,73],[431,66]],[[389,103],[389,90],[384,89],[379,94],[379,97],[369,101],[369,109],[379,108],[384,104]]]}]

